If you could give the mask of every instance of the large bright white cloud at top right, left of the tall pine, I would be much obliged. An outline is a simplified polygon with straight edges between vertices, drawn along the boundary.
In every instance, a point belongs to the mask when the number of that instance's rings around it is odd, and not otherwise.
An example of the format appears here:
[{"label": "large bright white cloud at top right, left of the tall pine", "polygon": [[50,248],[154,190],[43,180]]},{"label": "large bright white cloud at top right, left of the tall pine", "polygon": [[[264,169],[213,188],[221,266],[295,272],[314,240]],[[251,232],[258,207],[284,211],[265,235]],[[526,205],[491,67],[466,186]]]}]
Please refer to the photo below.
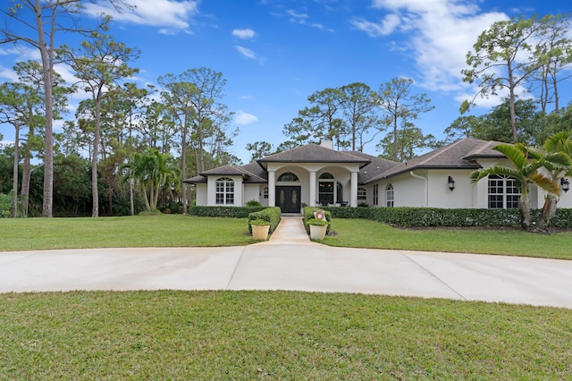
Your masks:
[{"label": "large bright white cloud at top right, left of the tall pine", "polygon": [[479,34],[505,13],[479,13],[476,0],[373,0],[373,8],[389,12],[382,21],[354,22],[372,37],[403,33],[426,89],[467,90],[461,70]]}]

